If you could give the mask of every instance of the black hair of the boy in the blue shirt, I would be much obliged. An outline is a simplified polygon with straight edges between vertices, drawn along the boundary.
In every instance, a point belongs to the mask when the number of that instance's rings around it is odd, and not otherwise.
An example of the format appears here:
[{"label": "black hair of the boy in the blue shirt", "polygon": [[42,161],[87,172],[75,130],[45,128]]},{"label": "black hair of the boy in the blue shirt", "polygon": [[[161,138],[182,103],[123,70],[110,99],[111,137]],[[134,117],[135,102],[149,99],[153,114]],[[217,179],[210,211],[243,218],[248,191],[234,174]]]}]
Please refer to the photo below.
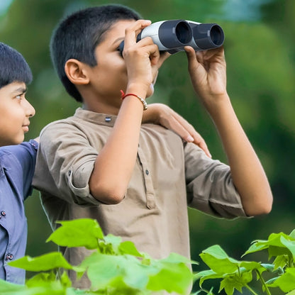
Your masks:
[{"label": "black hair of the boy in the blue shirt", "polygon": [[30,84],[33,74],[23,55],[0,42],[0,88],[13,82]]}]

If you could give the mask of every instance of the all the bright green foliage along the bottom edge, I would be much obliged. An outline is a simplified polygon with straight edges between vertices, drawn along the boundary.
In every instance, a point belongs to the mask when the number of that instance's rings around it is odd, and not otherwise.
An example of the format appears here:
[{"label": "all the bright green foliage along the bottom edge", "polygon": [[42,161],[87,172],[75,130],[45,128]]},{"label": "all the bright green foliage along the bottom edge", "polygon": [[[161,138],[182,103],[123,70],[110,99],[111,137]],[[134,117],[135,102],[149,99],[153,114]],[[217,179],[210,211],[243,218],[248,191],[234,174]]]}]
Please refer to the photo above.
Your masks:
[{"label": "all the bright green foliage along the bottom edge", "polygon": [[[295,230],[290,235],[272,233],[268,240],[255,240],[243,255],[267,250],[272,263],[235,260],[219,245],[213,245],[200,254],[210,269],[192,274],[189,265],[196,262],[175,253],[154,260],[139,252],[132,242],[104,235],[93,219],[61,221],[60,225],[47,241],[63,247],[86,247],[92,250],[91,255],[80,265],[70,265],[60,252],[10,262],[11,266],[38,274],[24,286],[0,280],[1,295],[148,295],[164,290],[187,294],[198,280],[201,289],[192,295],[214,295],[213,288],[203,289],[209,279],[220,280],[218,292],[224,290],[227,295],[233,295],[235,290],[243,293],[243,288],[253,295],[271,295],[274,288],[284,292],[281,294],[295,295]],[[68,269],[76,272],[77,279],[87,273],[90,288],[74,288]],[[271,278],[266,280],[265,274]],[[253,287],[255,282],[260,282],[259,291]]]}]

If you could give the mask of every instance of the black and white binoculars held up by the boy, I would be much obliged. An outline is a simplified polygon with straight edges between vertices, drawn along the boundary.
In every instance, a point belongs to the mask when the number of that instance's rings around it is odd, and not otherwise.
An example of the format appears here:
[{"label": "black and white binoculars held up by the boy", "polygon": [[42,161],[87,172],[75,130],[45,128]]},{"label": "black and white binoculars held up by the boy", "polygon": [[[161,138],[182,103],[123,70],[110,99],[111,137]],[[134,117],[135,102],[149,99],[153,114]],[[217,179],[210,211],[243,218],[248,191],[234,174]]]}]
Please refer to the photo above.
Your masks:
[{"label": "black and white binoculars held up by the boy", "polygon": [[[194,21],[171,20],[157,21],[144,28],[138,35],[138,41],[151,37],[160,51],[176,53],[191,46],[196,51],[218,48],[223,45],[224,33],[217,23],[196,23]],[[122,54],[124,41],[120,44]]]}]

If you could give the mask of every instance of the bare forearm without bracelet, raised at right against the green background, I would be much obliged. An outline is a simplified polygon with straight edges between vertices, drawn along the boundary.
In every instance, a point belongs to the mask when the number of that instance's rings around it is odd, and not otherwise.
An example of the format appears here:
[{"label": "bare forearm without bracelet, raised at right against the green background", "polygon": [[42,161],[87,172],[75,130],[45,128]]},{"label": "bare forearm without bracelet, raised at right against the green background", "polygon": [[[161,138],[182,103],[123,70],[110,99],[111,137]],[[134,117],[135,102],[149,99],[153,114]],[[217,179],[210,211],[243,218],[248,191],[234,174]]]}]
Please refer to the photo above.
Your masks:
[{"label": "bare forearm without bracelet, raised at right against the green background", "polygon": [[221,137],[228,157],[233,183],[238,190],[245,213],[255,216],[269,213],[272,208],[272,191],[265,171],[243,128],[227,94],[216,101],[216,106],[208,106]]}]

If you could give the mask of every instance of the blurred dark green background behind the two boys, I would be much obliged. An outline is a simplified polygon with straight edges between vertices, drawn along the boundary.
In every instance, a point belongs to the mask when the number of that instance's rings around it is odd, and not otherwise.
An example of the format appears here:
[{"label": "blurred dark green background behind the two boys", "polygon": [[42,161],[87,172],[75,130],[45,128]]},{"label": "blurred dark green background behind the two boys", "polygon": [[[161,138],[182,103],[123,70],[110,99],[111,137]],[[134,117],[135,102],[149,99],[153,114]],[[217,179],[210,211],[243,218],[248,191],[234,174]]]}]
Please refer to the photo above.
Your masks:
[{"label": "blurred dark green background behind the two boys", "polygon": [[[0,40],[20,51],[33,70],[27,98],[35,106],[26,139],[50,121],[71,116],[79,106],[57,79],[50,62],[49,41],[65,14],[108,1],[1,0]],[[264,165],[274,194],[268,216],[225,221],[189,210],[192,258],[219,244],[236,259],[255,239],[295,228],[295,1],[294,0],[149,0],[112,1],[132,7],[151,21],[184,18],[216,22],[225,35],[228,93],[240,122]],[[226,162],[218,134],[191,88],[187,58],[179,52],[163,65],[150,101],[168,104],[203,135],[213,158]],[[31,256],[56,250],[45,243],[50,226],[38,192],[26,201]],[[262,260],[259,257],[245,257]],[[267,255],[265,255],[265,261]],[[204,269],[204,265],[196,270]],[[28,274],[30,276],[30,274]],[[280,293],[278,293],[280,294]]]}]

